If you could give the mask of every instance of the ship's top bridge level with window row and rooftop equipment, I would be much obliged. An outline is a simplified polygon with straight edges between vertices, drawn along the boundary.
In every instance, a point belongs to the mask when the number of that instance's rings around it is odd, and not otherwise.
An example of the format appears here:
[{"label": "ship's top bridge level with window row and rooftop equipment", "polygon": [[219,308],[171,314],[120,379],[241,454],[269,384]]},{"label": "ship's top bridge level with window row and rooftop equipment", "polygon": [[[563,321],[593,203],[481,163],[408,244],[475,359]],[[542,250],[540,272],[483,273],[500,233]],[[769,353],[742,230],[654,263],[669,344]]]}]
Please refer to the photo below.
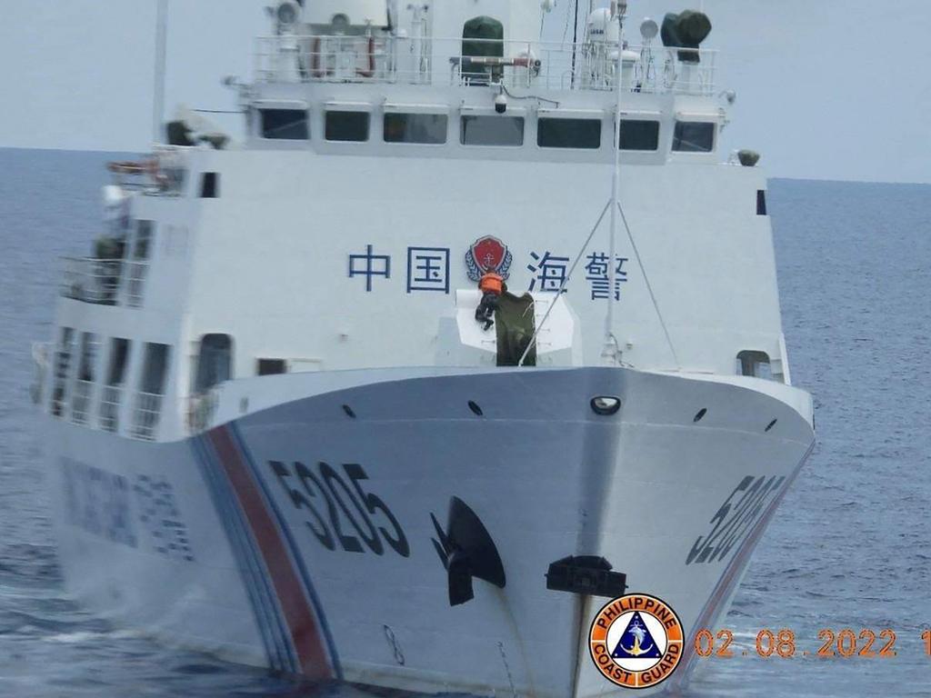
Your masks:
[{"label": "ship's top bridge level with window row and rooftop equipment", "polygon": [[[278,4],[252,82],[228,81],[250,149],[610,163],[620,104],[625,162],[717,159],[734,95],[716,85],[717,52],[701,47],[703,13],[638,27],[613,3],[591,12],[581,40],[554,43],[540,38],[534,3],[350,5]],[[622,40],[638,29],[640,44]]]}]

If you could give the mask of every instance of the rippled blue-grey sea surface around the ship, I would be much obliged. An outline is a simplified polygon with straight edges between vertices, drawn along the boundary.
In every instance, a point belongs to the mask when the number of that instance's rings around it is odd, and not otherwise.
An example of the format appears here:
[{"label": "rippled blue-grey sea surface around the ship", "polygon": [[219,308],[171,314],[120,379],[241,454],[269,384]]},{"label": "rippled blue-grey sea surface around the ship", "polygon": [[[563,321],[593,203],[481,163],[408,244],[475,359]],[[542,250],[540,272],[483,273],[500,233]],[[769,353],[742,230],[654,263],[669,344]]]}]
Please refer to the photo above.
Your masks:
[{"label": "rippled blue-grey sea surface around the ship", "polygon": [[[365,696],[165,649],[61,590],[30,342],[51,337],[58,257],[100,230],[113,158],[0,150],[0,698]],[[931,696],[931,186],[773,181],[769,205],[818,445],[723,624],[737,656],[704,660],[688,695]],[[762,659],[763,628],[813,653],[822,628],[891,628],[897,655]]]}]

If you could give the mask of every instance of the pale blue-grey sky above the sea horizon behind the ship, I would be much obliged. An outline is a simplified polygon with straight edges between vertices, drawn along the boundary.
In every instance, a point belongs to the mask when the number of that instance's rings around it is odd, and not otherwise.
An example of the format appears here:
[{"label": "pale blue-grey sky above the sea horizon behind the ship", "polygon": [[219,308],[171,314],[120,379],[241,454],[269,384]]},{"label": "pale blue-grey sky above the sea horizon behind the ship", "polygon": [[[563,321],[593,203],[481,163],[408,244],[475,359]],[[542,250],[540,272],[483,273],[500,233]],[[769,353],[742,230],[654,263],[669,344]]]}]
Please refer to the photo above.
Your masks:
[{"label": "pale blue-grey sky above the sea horizon behind the ship", "polygon": [[[628,2],[632,29],[704,6],[719,82],[737,93],[724,147],[761,152],[770,175],[931,183],[931,0]],[[169,3],[167,113],[178,103],[235,109],[221,80],[250,76],[252,39],[269,30],[265,3]],[[147,150],[155,5],[3,0],[0,147]],[[560,40],[573,7],[557,0],[546,39]]]}]

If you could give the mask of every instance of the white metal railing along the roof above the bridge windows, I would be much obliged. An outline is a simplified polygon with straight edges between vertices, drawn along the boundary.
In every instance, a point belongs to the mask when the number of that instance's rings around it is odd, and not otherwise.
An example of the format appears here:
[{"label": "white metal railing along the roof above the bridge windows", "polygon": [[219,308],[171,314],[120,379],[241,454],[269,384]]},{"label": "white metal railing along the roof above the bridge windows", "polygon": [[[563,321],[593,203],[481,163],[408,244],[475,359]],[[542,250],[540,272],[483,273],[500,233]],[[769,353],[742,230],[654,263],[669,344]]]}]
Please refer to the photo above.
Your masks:
[{"label": "white metal railing along the roof above the bridge windows", "polygon": [[[257,39],[259,83],[397,83],[410,85],[614,90],[617,47],[608,43],[463,40],[365,36],[263,36]],[[628,46],[622,88],[653,94],[711,96],[717,51]]]}]

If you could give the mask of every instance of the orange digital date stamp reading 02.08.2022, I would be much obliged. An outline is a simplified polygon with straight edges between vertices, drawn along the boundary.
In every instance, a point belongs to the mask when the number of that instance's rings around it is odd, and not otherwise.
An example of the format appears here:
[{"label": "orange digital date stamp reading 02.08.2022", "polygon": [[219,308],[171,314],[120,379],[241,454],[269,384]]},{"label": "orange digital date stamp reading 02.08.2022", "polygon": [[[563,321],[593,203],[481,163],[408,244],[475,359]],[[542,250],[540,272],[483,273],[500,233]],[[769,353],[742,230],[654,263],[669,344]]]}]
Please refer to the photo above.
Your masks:
[{"label": "orange digital date stamp reading 02.08.2022", "polygon": [[[762,629],[756,635],[755,647],[752,649],[739,649],[732,647],[734,632],[719,630],[712,633],[703,628],[695,633],[695,654],[699,657],[747,657],[760,656],[763,658],[781,657],[789,659],[797,656],[814,657],[864,657],[888,659],[897,656],[897,635],[892,628],[875,631],[863,628],[856,631],[852,628],[833,630],[822,628],[817,633],[821,641],[819,646],[812,644],[811,650],[806,650],[796,642],[796,635],[788,628],[781,630]],[[922,633],[924,653],[931,657],[931,630]]]}]

